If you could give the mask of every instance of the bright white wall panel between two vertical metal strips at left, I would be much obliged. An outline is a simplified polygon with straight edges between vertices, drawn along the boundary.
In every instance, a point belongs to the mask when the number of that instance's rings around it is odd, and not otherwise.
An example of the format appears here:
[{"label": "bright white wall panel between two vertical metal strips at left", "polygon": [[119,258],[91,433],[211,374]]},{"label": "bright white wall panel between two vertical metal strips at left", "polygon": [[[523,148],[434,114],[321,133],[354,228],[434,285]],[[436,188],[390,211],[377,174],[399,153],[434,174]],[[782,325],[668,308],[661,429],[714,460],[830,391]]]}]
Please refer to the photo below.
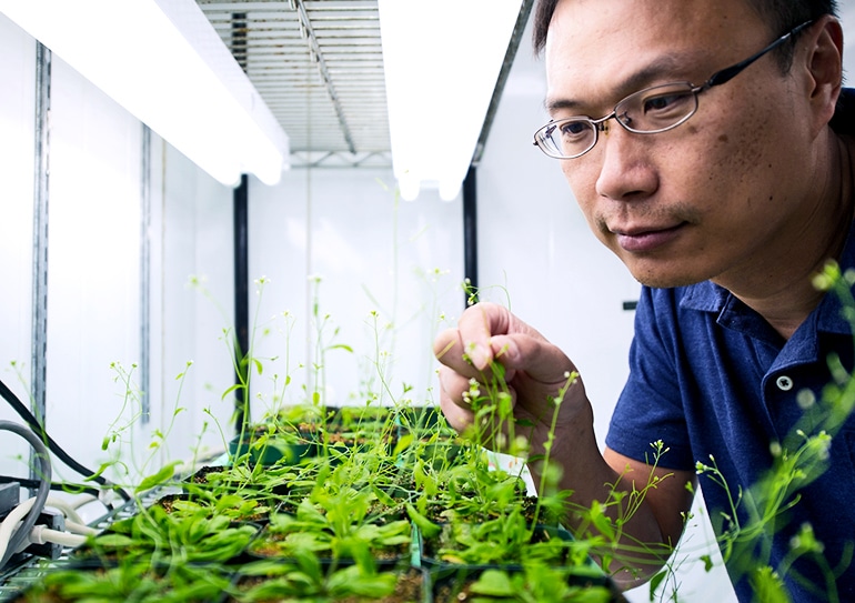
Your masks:
[{"label": "bright white wall panel between two vertical metal strips at left", "polygon": [[50,111],[46,424],[92,434],[64,443],[91,459],[120,408],[110,364],[130,370],[140,345],[141,130],[59,58]]}]

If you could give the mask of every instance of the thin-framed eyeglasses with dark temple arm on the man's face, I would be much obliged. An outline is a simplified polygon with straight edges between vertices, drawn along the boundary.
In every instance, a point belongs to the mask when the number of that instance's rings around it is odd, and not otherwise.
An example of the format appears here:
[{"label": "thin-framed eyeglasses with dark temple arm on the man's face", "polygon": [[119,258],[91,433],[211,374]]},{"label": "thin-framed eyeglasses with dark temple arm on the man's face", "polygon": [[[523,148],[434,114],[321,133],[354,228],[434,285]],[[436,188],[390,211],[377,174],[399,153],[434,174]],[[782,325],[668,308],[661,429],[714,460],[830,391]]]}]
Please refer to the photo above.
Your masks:
[{"label": "thin-framed eyeglasses with dark temple arm on the man's face", "polygon": [[610,119],[614,119],[624,130],[636,134],[655,134],[676,128],[695,114],[697,96],[701,92],[731,81],[754,61],[794,38],[812,23],[813,21],[806,21],[756,54],[716,71],[702,86],[688,82],[663,83],[630,94],[615,104],[614,110],[604,118],[574,117],[550,121],[534,132],[534,144],[549,157],[575,159],[594,148],[598,133],[607,130],[606,122]]}]

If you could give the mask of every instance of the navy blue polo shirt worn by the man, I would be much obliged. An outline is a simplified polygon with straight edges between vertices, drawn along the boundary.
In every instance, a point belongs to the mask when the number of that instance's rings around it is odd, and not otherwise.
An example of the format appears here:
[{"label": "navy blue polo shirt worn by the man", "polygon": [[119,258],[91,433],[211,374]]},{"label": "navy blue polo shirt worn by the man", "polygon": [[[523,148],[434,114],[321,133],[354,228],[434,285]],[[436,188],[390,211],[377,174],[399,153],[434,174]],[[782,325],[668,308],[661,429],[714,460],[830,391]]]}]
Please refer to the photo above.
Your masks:
[{"label": "navy blue polo shirt worn by the man", "polygon": [[[833,128],[855,132],[853,93],[845,91]],[[794,241],[794,244],[797,242]],[[855,267],[855,229],[842,268]],[[829,354],[853,369],[855,339],[834,294],[826,294],[793,336],[785,341],[757,313],[711,282],[685,288],[643,288],[630,351],[630,378],[612,418],[607,445],[626,456],[652,458],[651,443],[670,450],[661,465],[694,470],[711,455],[735,499],[772,465],[771,444],[796,450],[793,433],[805,413],[821,408],[831,382]],[[855,420],[832,438],[827,468],[799,489],[799,500],[776,521],[768,562],[778,567],[791,553],[795,533],[813,526],[823,543],[817,555],[801,557],[785,573],[793,601],[827,600],[823,563],[837,572],[839,601],[855,601]],[[716,533],[728,526],[731,504],[724,488],[701,475],[701,488]],[[743,524],[750,502],[737,507]],[[726,514],[726,515],[724,515]],[[731,565],[736,565],[732,563]],[[752,601],[747,581],[728,566],[741,601]],[[802,580],[804,579],[804,580]],[[807,581],[811,584],[805,584]]]}]

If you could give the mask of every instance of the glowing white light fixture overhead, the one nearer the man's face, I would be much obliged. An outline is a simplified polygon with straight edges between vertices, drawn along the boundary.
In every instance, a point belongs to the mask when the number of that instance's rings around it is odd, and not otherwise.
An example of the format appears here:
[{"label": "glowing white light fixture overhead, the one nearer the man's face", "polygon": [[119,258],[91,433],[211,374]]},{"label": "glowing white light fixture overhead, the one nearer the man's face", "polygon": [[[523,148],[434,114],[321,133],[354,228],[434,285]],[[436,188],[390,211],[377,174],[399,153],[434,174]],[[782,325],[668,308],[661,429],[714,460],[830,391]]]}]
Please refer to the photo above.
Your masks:
[{"label": "glowing white light fixture overhead, the one nearer the man's face", "polygon": [[379,0],[392,163],[401,197],[456,198],[520,0]]}]

